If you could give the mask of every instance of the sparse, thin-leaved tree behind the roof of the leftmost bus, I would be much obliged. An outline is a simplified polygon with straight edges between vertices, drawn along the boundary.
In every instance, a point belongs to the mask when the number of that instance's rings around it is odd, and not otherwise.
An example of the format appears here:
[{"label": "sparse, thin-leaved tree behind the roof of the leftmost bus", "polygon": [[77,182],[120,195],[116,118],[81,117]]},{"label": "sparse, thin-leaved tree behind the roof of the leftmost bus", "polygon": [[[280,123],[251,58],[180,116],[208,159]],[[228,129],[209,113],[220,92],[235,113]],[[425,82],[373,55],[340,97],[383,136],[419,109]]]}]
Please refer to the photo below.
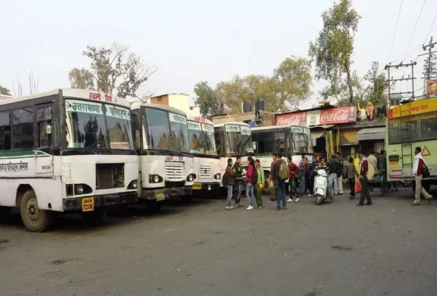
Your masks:
[{"label": "sparse, thin-leaved tree behind the roof of the leftmost bus", "polygon": [[[92,82],[95,89],[108,94],[116,94],[118,97],[137,97],[137,91],[142,87],[150,75],[156,72],[142,61],[141,56],[129,51],[123,44],[114,42],[111,47],[94,47],[87,45],[87,49],[82,52],[91,60],[91,70],[82,72],[80,79],[92,74]],[[69,77],[73,85],[90,86],[90,80],[77,80],[75,69],[70,71]],[[85,77],[83,76],[85,75]]]}]

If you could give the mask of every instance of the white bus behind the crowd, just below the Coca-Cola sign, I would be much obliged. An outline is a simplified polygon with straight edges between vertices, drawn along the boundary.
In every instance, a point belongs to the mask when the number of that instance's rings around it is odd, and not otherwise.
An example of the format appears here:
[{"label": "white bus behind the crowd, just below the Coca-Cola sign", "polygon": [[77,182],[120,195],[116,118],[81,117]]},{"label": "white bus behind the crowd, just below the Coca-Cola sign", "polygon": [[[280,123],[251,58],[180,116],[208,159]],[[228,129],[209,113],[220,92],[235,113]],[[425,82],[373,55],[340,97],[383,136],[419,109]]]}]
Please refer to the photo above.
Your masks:
[{"label": "white bus behind the crowd, just below the Coca-Cola sign", "polygon": [[283,159],[291,156],[297,166],[302,155],[312,161],[313,147],[309,128],[299,125],[271,125],[252,128],[253,149],[261,166],[264,168],[266,182],[264,193],[269,192],[270,167],[273,153],[281,152]]}]

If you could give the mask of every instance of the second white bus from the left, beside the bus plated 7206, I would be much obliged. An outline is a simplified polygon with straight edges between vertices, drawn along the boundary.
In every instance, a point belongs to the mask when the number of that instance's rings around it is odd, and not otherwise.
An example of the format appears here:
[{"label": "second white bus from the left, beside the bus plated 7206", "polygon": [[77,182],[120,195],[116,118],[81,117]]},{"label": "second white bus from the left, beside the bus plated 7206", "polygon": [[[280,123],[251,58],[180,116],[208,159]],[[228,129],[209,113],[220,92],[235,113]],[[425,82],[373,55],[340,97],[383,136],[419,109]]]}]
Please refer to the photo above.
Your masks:
[{"label": "second white bus from the left, beside the bus plated 7206", "polygon": [[164,199],[190,197],[195,174],[186,114],[161,104],[131,106],[140,158],[139,202],[158,210]]}]

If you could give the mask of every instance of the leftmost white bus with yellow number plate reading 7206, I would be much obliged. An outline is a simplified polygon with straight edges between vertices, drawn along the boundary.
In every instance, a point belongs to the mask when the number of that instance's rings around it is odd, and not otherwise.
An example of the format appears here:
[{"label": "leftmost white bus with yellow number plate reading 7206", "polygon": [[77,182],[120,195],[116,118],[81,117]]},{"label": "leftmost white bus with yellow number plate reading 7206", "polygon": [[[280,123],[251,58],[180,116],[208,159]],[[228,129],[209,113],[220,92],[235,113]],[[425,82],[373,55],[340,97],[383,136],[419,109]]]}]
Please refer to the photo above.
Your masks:
[{"label": "leftmost white bus with yellow number plate reading 7206", "polygon": [[129,103],[88,90],[0,101],[0,215],[20,208],[30,231],[56,212],[97,220],[137,202]]}]

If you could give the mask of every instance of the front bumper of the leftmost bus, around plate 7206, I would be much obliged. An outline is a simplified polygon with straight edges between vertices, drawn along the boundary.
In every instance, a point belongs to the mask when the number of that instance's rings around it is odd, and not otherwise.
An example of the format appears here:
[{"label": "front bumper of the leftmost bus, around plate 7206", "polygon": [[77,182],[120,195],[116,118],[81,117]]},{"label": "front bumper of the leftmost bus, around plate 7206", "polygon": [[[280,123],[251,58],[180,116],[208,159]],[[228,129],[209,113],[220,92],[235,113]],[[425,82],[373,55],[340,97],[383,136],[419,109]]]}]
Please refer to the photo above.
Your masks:
[{"label": "front bumper of the leftmost bus, around plate 7206", "polygon": [[123,204],[134,204],[138,201],[138,193],[122,192],[110,195],[94,195],[92,197],[68,197],[63,199],[63,211],[82,211],[83,200],[94,198],[94,209],[105,209]]}]

